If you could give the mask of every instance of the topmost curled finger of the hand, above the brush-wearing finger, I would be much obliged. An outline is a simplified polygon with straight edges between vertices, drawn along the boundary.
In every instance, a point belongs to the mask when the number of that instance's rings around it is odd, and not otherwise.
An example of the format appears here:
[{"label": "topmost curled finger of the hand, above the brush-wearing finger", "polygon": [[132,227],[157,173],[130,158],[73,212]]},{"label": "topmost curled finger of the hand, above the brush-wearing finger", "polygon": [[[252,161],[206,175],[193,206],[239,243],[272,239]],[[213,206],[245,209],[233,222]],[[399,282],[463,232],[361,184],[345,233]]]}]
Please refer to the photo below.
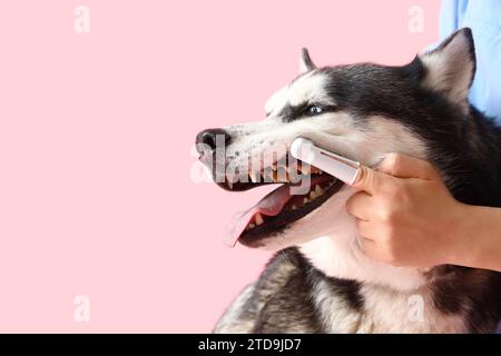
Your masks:
[{"label": "topmost curled finger of the hand, above the brush-wearing finger", "polygon": [[428,161],[402,154],[387,155],[376,169],[399,178],[435,179],[439,177],[435,168]]}]

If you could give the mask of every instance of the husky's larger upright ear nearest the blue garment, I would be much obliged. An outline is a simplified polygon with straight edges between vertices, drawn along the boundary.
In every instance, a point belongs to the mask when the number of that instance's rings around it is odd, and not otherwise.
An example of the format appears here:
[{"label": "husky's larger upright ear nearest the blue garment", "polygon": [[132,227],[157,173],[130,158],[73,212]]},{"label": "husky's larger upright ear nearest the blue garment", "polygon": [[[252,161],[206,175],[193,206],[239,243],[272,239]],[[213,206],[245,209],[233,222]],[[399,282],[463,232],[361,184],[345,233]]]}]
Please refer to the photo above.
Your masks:
[{"label": "husky's larger upright ear nearest the blue garment", "polygon": [[434,50],[420,56],[422,85],[468,109],[468,90],[475,72],[475,49],[469,28],[452,33]]}]

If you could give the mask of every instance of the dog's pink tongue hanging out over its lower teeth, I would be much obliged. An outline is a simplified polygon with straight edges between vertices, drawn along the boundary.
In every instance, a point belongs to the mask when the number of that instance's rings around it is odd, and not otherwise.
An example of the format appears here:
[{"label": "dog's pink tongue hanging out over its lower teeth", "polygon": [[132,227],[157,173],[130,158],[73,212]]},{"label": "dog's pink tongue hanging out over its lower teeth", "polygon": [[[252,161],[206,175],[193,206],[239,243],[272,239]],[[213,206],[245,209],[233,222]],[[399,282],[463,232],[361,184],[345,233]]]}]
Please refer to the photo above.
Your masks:
[{"label": "dog's pink tongue hanging out over its lower teeth", "polygon": [[282,186],[278,189],[273,190],[250,209],[237,212],[226,230],[224,239],[225,245],[234,247],[248,222],[257,212],[267,216],[276,216],[282,211],[283,207],[291,198],[291,187]]}]

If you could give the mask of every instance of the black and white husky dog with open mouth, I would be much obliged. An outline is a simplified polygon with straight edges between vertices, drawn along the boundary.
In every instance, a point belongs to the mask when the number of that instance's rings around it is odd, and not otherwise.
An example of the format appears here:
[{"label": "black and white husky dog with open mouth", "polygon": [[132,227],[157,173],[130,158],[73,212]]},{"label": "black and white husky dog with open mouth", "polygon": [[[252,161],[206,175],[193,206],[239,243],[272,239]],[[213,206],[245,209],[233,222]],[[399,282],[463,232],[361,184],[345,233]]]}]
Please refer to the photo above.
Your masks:
[{"label": "black and white husky dog with open mouth", "polygon": [[[215,176],[214,162],[247,167],[256,152],[276,144],[288,147],[301,136],[369,167],[391,152],[425,159],[458,200],[501,206],[501,131],[468,101],[475,72],[470,29],[403,67],[316,68],[303,50],[301,68],[268,100],[265,120],[197,136],[200,159],[212,162]],[[218,138],[223,156],[217,154]],[[248,181],[223,179],[218,185],[238,191],[263,184],[259,178],[276,184],[281,168],[289,169],[277,157],[252,171]],[[306,170],[308,191],[289,195],[293,182],[286,175],[281,187],[238,221],[245,225],[235,230],[240,244],[277,253],[228,307],[216,333],[495,329],[501,274],[451,265],[394,267],[367,258],[345,209],[354,190],[315,167]]]}]

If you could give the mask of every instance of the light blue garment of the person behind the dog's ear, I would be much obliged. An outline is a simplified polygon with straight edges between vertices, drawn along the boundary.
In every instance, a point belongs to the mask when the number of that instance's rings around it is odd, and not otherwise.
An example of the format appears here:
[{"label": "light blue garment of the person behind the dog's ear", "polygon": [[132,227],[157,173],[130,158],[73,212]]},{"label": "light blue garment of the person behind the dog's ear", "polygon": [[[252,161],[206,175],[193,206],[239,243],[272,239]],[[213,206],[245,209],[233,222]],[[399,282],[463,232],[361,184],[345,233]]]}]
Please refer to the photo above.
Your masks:
[{"label": "light blue garment of the person behind the dog's ear", "polygon": [[470,101],[501,125],[501,1],[443,0],[440,36],[469,27],[475,41],[477,73]]}]

